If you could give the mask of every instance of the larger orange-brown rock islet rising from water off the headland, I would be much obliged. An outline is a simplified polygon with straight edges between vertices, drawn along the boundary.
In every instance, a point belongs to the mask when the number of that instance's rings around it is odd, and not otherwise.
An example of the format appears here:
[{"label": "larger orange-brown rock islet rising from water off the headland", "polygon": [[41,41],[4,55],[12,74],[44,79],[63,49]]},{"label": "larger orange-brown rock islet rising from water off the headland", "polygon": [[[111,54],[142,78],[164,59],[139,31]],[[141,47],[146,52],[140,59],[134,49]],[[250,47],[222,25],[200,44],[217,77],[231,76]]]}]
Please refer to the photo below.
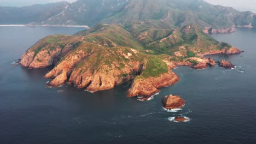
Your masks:
[{"label": "larger orange-brown rock islet rising from water off the headland", "polygon": [[162,99],[162,105],[165,109],[179,109],[185,105],[185,100],[179,96],[167,95]]}]

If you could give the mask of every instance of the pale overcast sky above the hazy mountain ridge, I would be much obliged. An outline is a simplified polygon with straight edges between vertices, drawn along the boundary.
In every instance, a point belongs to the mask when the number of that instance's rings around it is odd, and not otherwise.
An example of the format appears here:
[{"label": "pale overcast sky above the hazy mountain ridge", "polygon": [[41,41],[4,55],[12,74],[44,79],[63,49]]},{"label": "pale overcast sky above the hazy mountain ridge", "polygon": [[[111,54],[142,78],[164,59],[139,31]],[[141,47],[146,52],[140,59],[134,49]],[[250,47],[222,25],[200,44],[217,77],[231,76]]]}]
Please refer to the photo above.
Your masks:
[{"label": "pale overcast sky above the hazy mountain ridge", "polygon": [[[22,7],[26,5],[32,5],[32,4],[44,4],[44,3],[52,3],[52,2],[60,2],[60,1],[65,1],[65,0],[0,0],[0,6]],[[66,1],[74,2],[76,0],[66,0]],[[228,7],[233,7],[235,9],[242,10],[242,11],[251,10],[254,13],[256,13],[256,0],[205,0],[205,1],[212,4],[220,4]]]}]

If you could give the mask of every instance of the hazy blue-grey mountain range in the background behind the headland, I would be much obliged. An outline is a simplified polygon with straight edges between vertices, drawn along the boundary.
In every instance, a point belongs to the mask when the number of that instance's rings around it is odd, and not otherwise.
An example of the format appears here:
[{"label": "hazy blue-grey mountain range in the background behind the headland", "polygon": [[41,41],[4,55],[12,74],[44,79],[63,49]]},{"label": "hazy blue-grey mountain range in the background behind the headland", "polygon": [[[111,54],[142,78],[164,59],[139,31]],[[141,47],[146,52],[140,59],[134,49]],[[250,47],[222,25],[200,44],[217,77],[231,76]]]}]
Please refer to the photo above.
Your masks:
[{"label": "hazy blue-grey mountain range in the background behind the headland", "polygon": [[202,0],[78,0],[32,5],[0,7],[1,24],[89,25],[159,20],[165,25],[182,27],[193,22],[198,26],[225,28],[254,26],[255,15],[230,7],[212,5]]}]

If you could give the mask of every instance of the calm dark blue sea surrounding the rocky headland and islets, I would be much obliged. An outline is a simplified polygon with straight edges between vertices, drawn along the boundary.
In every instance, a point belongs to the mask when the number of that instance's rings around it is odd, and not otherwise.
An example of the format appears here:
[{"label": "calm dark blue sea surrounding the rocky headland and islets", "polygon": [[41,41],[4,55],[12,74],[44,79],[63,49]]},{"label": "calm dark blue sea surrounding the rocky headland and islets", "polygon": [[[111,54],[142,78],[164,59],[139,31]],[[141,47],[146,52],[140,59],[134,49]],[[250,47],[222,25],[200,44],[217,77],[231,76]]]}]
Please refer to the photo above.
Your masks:
[{"label": "calm dark blue sea surrounding the rocky headland and islets", "polygon": [[[245,50],[213,56],[237,65],[174,71],[181,81],[150,101],[126,97],[127,85],[89,93],[74,87],[46,88],[50,69],[28,70],[11,63],[49,34],[83,28],[0,27],[0,143],[254,143],[256,141],[256,30],[212,35]],[[62,90],[63,92],[58,92]],[[162,109],[164,95],[187,101],[177,112]],[[174,116],[191,120],[175,123]]]}]

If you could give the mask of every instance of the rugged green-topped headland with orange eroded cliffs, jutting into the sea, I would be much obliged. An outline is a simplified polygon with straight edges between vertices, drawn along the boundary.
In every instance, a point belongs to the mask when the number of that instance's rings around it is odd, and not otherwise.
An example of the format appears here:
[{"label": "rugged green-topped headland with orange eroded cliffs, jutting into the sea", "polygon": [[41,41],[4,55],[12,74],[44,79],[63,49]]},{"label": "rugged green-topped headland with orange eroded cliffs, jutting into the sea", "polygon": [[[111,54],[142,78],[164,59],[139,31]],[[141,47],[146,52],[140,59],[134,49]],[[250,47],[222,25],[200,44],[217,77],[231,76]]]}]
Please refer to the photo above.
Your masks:
[{"label": "rugged green-topped headland with orange eroded cliffs, jutting into the sea", "polygon": [[[150,27],[148,27],[150,24]],[[195,24],[182,28],[154,22],[97,25],[75,35],[50,35],[28,49],[22,67],[55,65],[45,75],[48,87],[65,83],[96,92],[132,81],[127,95],[150,97],[160,87],[179,81],[171,69],[213,66],[205,53],[240,53],[229,44],[212,39]]]}]

